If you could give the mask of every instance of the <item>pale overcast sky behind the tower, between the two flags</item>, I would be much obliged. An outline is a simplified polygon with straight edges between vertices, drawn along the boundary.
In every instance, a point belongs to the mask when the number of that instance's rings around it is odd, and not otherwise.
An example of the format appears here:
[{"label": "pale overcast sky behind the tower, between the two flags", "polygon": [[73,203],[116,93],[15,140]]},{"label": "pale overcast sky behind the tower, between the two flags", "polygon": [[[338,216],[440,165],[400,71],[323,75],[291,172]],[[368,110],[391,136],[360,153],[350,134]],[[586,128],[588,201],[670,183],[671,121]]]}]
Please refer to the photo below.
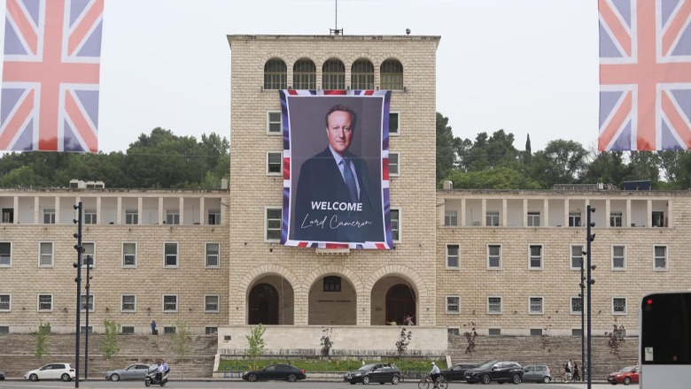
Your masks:
[{"label": "pale overcast sky behind the tower, between the two flags", "polygon": [[[229,138],[226,35],[329,34],[335,10],[335,0],[106,0],[98,149],[124,151],[157,126]],[[596,144],[594,0],[339,0],[338,28],[441,36],[437,111],[455,136],[504,129],[524,149],[530,133],[533,151]]]}]

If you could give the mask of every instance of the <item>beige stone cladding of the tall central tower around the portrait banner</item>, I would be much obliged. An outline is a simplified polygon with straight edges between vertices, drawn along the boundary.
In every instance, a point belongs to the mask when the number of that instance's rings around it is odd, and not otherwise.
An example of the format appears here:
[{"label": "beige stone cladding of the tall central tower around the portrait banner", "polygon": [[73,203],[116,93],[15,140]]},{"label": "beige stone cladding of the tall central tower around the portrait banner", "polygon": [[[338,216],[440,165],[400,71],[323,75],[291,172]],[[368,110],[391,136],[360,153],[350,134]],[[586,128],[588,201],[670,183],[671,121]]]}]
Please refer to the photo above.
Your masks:
[{"label": "beige stone cladding of the tall central tower around the portrait banner", "polygon": [[[250,289],[260,278],[272,276],[290,284],[283,288],[294,294],[294,307],[292,301],[282,306],[294,309],[289,312],[294,314],[294,324],[320,321],[309,317],[308,301],[310,290],[316,289],[326,275],[343,278],[344,288],[349,289],[347,299],[356,299],[353,324],[369,325],[384,317],[382,307],[373,306],[371,299],[373,293],[378,293],[377,281],[387,277],[404,279],[414,288],[419,321],[435,324],[437,269],[431,215],[435,214],[435,69],[439,37],[229,35],[228,40],[232,71],[230,324],[248,323]],[[266,130],[267,112],[281,110],[278,91],[263,88],[264,65],[271,58],[280,58],[287,65],[288,85],[292,84],[292,66],[297,60],[314,61],[317,88],[322,84],[322,65],[330,58],[338,58],[345,65],[347,85],[357,59],[366,58],[374,65],[376,86],[384,60],[400,61],[405,90],[392,91],[391,99],[391,110],[400,112],[400,134],[390,138],[390,150],[400,153],[400,175],[391,179],[391,205],[400,210],[401,219],[396,249],[350,250],[345,255],[331,255],[265,240],[265,210],[280,209],[283,204],[283,178],[266,173],[267,152],[283,151],[281,134],[268,134]],[[317,295],[312,298],[321,300]],[[338,309],[338,303],[331,308],[332,312]],[[377,312],[372,313],[373,309]]]}]

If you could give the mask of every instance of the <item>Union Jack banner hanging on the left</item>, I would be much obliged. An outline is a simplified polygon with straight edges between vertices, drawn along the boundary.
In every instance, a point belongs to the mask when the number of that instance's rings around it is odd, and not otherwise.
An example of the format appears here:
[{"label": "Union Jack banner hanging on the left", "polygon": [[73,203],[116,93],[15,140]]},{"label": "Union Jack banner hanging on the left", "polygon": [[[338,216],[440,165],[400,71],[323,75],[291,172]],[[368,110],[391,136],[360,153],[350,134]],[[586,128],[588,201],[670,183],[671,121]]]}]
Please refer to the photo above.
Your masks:
[{"label": "Union Jack banner hanging on the left", "polygon": [[105,0],[6,0],[0,149],[98,151]]}]

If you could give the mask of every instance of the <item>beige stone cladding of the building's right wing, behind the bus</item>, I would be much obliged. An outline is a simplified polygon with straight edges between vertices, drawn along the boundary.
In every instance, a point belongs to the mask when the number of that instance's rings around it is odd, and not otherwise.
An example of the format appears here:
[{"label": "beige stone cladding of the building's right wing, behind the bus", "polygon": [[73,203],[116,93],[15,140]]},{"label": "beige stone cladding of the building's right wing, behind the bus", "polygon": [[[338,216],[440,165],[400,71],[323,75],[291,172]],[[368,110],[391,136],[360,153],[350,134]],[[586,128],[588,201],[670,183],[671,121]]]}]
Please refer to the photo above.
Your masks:
[{"label": "beige stone cladding of the building's right wing, behind the bus", "polygon": [[[614,324],[624,325],[627,334],[635,335],[644,294],[691,288],[687,261],[691,195],[687,192],[443,190],[437,201],[445,205],[437,214],[439,325],[465,332],[474,323],[485,334],[488,329],[499,329],[501,334],[529,334],[531,329],[551,335],[579,331],[581,317],[579,311],[571,310],[571,299],[578,299],[580,293],[580,270],[571,265],[571,250],[578,252],[572,247],[580,245],[586,251],[586,204],[595,209],[591,248],[596,266],[591,311],[595,335],[611,332]],[[483,207],[482,215],[498,210],[498,225],[477,217]],[[459,211],[457,225],[445,225],[445,209]],[[476,212],[472,218],[471,210]],[[525,210],[540,212],[541,225],[513,225],[511,215]],[[656,213],[661,215],[657,221]],[[581,216],[578,226],[564,222],[569,214]],[[612,226],[617,222],[610,221],[610,215],[622,217],[622,225]],[[518,218],[516,224],[520,223]],[[447,245],[460,248],[457,268],[447,266]],[[499,269],[488,263],[490,245],[501,247]],[[536,245],[543,250],[539,269],[531,268],[530,262],[530,246]],[[446,313],[446,296],[460,297],[460,312]],[[490,297],[501,298],[501,313],[489,312]],[[540,313],[530,312],[531,297],[542,299]]]}]

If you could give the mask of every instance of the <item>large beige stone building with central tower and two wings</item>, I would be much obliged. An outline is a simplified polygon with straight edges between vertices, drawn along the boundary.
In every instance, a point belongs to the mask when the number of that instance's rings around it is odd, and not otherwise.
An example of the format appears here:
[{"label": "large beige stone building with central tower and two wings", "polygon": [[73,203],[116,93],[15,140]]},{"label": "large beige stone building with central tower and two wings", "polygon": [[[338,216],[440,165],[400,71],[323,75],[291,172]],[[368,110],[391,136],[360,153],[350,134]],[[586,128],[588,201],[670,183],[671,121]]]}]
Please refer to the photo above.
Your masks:
[{"label": "large beige stone building with central tower and two wings", "polygon": [[[487,335],[580,332],[586,206],[596,239],[594,333],[635,334],[641,295],[687,289],[691,195],[572,187],[435,188],[437,36],[229,35],[229,187],[0,191],[0,332],[41,320],[74,332],[73,206],[84,204],[93,258],[90,323],[123,332],[180,324],[246,347],[390,348],[414,316],[411,348],[446,349],[468,324]],[[279,89],[391,90],[389,187],[395,249],[280,243],[283,123]],[[462,113],[458,113],[462,114]],[[107,183],[106,183],[107,184]],[[82,292],[84,294],[84,292]]]}]

